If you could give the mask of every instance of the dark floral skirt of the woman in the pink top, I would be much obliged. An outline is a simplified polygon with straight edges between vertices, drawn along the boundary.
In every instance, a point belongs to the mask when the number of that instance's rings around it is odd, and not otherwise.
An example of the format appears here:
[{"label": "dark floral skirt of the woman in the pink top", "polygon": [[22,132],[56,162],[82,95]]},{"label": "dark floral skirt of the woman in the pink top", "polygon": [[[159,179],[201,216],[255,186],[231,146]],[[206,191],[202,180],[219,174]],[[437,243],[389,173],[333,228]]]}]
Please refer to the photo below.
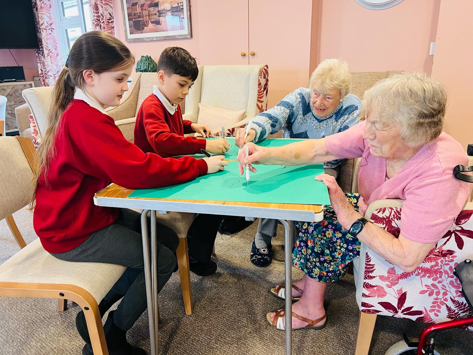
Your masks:
[{"label": "dark floral skirt of the woman in the pink top", "polygon": [[[345,194],[358,211],[359,194]],[[325,206],[321,222],[294,222],[300,232],[292,250],[292,265],[320,282],[342,278],[359,256],[360,242],[337,221],[332,206]]]}]

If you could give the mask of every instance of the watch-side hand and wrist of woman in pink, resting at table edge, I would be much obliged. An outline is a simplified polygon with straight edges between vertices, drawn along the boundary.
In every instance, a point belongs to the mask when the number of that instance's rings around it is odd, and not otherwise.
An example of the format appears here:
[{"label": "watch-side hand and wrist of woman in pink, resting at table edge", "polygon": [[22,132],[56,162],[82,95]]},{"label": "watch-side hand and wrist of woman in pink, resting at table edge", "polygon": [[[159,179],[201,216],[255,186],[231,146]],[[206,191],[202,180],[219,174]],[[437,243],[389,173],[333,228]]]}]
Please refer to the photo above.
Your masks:
[{"label": "watch-side hand and wrist of woman in pink, resting at table edge", "polygon": [[328,195],[333,211],[337,214],[337,220],[343,228],[349,229],[351,224],[359,218],[359,213],[348,203],[343,190],[338,186],[335,177],[321,174],[315,180],[322,181],[328,187]]}]

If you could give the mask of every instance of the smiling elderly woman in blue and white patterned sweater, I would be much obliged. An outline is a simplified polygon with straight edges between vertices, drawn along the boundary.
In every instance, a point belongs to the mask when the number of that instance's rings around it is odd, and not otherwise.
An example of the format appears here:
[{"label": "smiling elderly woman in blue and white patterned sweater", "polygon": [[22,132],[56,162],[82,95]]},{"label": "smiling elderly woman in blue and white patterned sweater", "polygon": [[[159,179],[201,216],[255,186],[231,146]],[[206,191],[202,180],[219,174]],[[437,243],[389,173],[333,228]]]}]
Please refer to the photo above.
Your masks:
[{"label": "smiling elderly woman in blue and white patterned sweater", "polygon": [[[247,142],[261,142],[281,129],[283,138],[317,139],[350,128],[361,115],[360,99],[349,93],[351,82],[346,62],[325,59],[310,76],[309,88],[292,91],[275,107],[254,117],[245,142],[245,128],[240,128],[235,144],[241,148]],[[325,172],[337,177],[342,161],[324,163]],[[250,254],[254,265],[271,264],[271,238],[276,236],[277,223],[260,219]]]}]

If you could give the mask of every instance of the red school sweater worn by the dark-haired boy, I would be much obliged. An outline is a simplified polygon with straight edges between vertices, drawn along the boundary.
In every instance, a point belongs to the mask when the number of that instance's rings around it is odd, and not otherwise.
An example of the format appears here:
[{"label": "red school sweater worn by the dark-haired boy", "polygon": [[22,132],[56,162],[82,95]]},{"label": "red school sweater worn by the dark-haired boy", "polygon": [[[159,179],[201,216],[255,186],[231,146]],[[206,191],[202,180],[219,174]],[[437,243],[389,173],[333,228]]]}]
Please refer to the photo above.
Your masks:
[{"label": "red school sweater worn by the dark-haired boy", "polygon": [[136,115],[133,142],[145,153],[156,152],[164,158],[201,153],[205,139],[184,137],[184,134],[194,133],[191,124],[182,119],[179,106],[171,115],[159,98],[151,94],[144,99]]}]

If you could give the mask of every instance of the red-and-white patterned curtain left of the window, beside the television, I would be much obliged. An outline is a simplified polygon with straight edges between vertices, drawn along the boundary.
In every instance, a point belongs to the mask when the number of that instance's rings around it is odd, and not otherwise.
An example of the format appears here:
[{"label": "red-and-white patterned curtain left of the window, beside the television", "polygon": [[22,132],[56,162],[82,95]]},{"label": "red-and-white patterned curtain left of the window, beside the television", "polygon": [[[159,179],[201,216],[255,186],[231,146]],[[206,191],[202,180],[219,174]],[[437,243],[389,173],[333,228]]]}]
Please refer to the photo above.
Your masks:
[{"label": "red-and-white patterned curtain left of the window, beside the television", "polygon": [[53,86],[61,72],[59,46],[53,20],[52,0],[32,0],[39,49],[36,52],[38,71],[43,86]]}]

